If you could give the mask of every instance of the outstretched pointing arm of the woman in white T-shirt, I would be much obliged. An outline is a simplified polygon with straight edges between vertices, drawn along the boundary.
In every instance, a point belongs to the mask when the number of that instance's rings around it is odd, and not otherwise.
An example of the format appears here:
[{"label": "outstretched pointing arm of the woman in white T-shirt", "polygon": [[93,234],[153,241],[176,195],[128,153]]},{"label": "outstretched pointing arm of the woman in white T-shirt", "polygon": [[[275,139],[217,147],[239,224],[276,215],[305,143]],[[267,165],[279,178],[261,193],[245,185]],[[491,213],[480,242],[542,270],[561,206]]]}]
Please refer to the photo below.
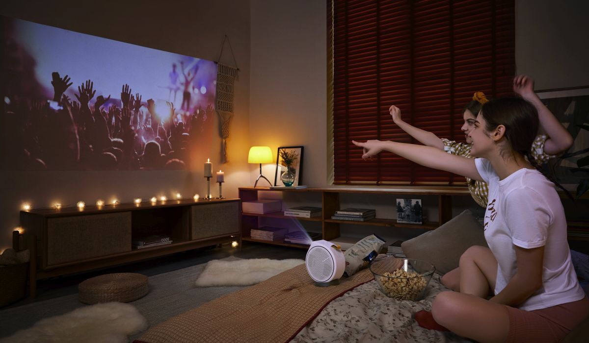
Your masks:
[{"label": "outstretched pointing arm of the woman in white T-shirt", "polygon": [[352,141],[352,143],[363,148],[363,159],[372,159],[372,156],[386,150],[409,159],[416,164],[462,175],[463,177],[477,181],[483,181],[481,174],[477,170],[477,166],[475,166],[474,158],[451,155],[433,146],[378,140],[370,140],[363,143]]}]

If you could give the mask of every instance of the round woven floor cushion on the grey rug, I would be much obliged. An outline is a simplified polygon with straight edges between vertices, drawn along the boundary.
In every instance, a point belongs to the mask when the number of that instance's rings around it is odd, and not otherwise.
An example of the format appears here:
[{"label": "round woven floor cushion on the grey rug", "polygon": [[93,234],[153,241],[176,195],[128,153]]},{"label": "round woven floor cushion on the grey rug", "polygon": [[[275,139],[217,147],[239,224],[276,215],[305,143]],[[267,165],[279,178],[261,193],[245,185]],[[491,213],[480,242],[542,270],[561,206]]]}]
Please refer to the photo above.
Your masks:
[{"label": "round woven floor cushion on the grey rug", "polygon": [[149,291],[147,277],[137,273],[105,274],[90,278],[78,285],[78,298],[84,304],[98,302],[130,302]]}]

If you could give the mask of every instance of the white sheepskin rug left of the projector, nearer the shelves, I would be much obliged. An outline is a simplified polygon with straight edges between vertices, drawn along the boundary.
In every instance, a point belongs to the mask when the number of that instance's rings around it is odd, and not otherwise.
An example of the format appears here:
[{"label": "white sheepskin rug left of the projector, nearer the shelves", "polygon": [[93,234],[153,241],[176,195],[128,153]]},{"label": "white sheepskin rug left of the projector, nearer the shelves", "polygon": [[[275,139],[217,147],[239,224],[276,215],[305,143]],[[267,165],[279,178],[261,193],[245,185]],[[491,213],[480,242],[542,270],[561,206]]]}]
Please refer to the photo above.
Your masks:
[{"label": "white sheepskin rug left of the projector, nearer the shelves", "polygon": [[238,261],[209,261],[196,280],[197,287],[248,286],[305,263],[303,259],[252,258]]}]

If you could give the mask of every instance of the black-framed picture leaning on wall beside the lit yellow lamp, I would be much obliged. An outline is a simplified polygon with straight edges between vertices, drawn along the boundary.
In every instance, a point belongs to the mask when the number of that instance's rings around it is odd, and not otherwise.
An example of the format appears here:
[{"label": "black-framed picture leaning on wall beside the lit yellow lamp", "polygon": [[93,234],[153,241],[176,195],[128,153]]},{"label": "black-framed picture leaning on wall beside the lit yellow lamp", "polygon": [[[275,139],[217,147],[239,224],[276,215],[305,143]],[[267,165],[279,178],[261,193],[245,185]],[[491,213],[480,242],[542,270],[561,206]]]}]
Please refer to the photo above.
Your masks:
[{"label": "black-framed picture leaning on wall beside the lit yellow lamp", "polygon": [[279,146],[274,186],[297,187],[302,184],[302,177],[303,146]]}]

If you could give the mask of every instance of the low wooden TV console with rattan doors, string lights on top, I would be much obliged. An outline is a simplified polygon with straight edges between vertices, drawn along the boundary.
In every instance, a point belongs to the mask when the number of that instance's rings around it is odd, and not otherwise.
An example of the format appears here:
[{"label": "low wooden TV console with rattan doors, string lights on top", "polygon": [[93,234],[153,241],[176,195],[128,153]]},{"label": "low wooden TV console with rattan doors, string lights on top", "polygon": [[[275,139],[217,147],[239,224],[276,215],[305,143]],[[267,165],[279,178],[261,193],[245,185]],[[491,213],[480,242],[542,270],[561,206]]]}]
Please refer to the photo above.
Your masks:
[{"label": "low wooden TV console with rattan doors, string lights on top", "polygon": [[[241,244],[240,208],[240,199],[233,198],[32,209],[21,211],[27,246],[14,248],[31,250],[30,295],[35,297],[38,279],[231,241]],[[134,239],[149,235],[167,235],[172,242],[133,247]]]}]

